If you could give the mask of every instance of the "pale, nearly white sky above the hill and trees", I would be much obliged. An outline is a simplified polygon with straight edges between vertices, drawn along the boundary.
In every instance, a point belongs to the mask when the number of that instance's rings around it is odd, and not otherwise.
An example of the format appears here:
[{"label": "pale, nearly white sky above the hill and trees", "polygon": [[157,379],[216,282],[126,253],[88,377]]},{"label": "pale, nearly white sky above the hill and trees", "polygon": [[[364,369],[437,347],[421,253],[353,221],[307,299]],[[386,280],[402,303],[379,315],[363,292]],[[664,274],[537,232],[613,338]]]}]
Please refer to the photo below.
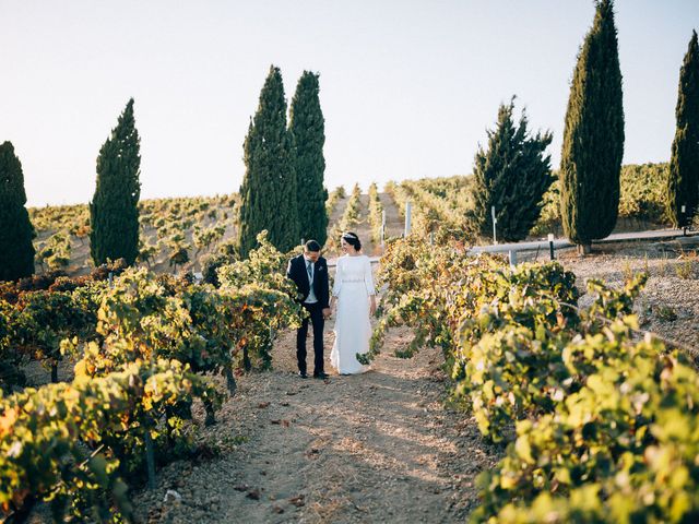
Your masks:
[{"label": "pale, nearly white sky above the hill and trees", "polygon": [[[270,64],[320,73],[325,184],[471,172],[500,103],[550,129],[553,166],[592,0],[0,0],[0,142],[29,205],[92,198],[129,97],[141,196],[238,191]],[[625,163],[664,162],[699,0],[617,0]]]}]

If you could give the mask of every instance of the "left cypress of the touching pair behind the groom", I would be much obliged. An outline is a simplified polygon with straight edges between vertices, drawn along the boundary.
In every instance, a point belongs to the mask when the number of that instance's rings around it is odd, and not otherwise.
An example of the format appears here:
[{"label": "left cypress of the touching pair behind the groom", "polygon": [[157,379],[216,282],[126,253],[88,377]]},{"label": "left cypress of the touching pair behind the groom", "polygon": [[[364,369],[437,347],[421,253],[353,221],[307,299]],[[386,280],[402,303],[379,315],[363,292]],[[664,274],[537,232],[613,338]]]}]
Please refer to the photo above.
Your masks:
[{"label": "left cypress of the touching pair behind the groom", "polygon": [[257,235],[268,238],[280,250],[300,242],[296,192],[295,152],[286,128],[286,99],[279,68],[270,73],[260,93],[260,103],[244,144],[245,177],[240,186],[241,257],[256,247]]}]

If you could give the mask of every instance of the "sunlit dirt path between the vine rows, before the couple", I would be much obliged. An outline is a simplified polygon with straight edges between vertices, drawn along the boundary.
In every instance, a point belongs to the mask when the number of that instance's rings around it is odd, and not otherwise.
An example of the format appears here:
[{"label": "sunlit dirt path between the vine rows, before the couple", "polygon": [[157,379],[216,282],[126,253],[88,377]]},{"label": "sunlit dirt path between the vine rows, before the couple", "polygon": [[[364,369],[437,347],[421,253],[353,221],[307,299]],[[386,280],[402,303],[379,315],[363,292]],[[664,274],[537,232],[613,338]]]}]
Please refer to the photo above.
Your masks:
[{"label": "sunlit dirt path between the vine rows, before the couple", "polygon": [[[388,346],[407,342],[406,333],[394,332]],[[413,360],[384,354],[365,374],[319,381],[295,374],[293,348],[294,333],[285,333],[275,371],[240,380],[220,422],[203,429],[220,454],[159,472],[156,490],[135,499],[141,517],[463,522],[476,503],[475,476],[495,464],[496,451],[470,417],[445,408],[441,354],[424,350]],[[181,500],[170,495],[164,503],[168,489]]]}]

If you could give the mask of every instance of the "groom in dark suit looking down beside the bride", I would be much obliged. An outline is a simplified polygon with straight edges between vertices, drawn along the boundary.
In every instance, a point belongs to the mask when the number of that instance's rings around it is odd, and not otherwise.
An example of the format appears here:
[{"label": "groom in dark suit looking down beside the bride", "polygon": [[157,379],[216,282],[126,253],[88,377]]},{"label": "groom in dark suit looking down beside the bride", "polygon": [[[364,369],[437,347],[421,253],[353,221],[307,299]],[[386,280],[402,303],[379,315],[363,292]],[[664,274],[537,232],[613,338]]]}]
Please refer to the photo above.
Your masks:
[{"label": "groom in dark suit looking down beside the bride", "polygon": [[[327,379],[323,371],[323,326],[330,317],[330,289],[328,286],[328,263],[320,255],[320,245],[309,240],[304,245],[304,253],[288,262],[286,276],[296,283],[300,295],[300,302],[310,313],[313,324],[313,378]],[[298,374],[307,379],[306,374],[306,335],[308,334],[308,317],[296,332],[296,358],[298,359]]]}]

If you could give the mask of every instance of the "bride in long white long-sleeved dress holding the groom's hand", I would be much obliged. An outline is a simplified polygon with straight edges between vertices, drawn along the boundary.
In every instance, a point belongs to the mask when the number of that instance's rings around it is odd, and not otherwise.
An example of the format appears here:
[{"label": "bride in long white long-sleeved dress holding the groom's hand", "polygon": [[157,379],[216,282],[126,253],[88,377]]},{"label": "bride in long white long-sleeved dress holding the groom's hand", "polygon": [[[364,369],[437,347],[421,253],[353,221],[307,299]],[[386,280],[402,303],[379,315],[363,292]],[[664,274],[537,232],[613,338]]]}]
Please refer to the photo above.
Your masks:
[{"label": "bride in long white long-sleeved dress holding the groom's hand", "polygon": [[359,237],[354,233],[345,233],[341,246],[345,254],[337,259],[330,298],[331,310],[337,305],[335,343],[330,353],[330,362],[340,374],[354,374],[368,370],[359,364],[356,355],[369,350],[369,314],[376,311],[376,296],[371,263],[367,255],[359,252]]}]

